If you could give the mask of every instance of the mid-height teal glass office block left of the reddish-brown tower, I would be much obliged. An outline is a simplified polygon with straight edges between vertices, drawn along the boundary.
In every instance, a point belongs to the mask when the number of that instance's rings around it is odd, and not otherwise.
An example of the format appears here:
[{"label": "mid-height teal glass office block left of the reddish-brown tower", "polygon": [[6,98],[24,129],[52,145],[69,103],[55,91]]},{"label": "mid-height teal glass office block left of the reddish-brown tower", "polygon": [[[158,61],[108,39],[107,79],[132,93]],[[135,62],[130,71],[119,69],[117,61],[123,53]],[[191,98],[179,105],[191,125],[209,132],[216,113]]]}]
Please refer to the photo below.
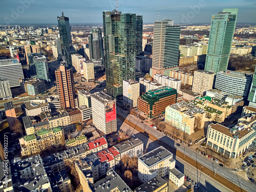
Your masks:
[{"label": "mid-height teal glass office block left of the reddish-brown tower", "polygon": [[48,61],[45,55],[34,56],[33,58],[34,66],[36,68],[35,78],[45,79],[47,81],[51,81]]}]

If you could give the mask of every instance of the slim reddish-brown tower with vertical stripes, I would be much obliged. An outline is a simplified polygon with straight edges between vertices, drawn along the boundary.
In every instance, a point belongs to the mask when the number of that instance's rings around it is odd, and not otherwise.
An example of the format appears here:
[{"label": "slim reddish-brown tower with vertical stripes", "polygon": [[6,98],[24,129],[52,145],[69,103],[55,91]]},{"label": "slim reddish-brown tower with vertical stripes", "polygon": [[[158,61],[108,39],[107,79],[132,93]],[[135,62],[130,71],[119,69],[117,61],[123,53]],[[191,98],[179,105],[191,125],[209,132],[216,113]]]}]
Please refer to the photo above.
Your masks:
[{"label": "slim reddish-brown tower with vertical stripes", "polygon": [[66,68],[65,61],[55,70],[60,107],[75,108],[75,86],[72,67]]}]

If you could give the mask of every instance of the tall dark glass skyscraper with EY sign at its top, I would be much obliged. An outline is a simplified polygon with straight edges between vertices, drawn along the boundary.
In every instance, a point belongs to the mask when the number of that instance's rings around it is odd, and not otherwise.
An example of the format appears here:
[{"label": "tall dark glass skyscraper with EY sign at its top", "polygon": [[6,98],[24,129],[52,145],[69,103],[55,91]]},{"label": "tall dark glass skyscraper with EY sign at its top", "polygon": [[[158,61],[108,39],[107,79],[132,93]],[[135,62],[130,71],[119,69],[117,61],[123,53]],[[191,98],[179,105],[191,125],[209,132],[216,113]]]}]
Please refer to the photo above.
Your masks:
[{"label": "tall dark glass skyscraper with EY sign at its top", "polygon": [[103,12],[106,91],[123,94],[123,79],[135,79],[136,14]]}]

